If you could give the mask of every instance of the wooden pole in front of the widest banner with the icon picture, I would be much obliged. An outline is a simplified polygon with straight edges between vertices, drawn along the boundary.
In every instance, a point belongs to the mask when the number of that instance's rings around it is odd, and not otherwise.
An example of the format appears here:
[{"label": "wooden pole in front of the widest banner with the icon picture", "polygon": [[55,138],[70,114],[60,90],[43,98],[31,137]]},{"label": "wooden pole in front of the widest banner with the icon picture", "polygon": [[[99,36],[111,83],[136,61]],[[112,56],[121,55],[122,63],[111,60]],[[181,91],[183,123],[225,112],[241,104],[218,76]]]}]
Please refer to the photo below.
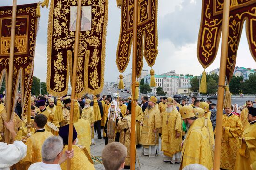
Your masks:
[{"label": "wooden pole in front of the widest banner with the icon picture", "polygon": [[[72,150],[73,143],[73,113],[74,113],[74,101],[75,101],[75,87],[76,87],[76,72],[77,72],[77,58],[78,58],[78,45],[79,45],[79,34],[80,34],[80,23],[81,23],[81,8],[82,0],[78,0],[77,5],[77,16],[76,16],[76,27],[75,27],[75,42],[74,42],[74,63],[71,80],[71,108],[70,108],[70,120],[69,120],[69,133],[68,133],[68,151]],[[71,159],[67,159],[67,170],[71,170]]]}]

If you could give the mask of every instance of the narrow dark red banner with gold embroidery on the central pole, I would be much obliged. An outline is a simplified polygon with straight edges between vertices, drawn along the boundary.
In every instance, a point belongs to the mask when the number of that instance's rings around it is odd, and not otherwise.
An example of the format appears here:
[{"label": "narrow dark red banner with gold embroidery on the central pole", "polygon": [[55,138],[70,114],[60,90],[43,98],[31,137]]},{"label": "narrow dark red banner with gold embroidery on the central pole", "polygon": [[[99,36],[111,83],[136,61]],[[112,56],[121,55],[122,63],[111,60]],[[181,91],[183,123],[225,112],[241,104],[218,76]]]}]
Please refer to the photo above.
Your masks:
[{"label": "narrow dark red banner with gold embroidery on the central pole", "polygon": [[[122,0],[121,30],[116,53],[116,64],[121,73],[125,71],[130,60],[133,36],[133,10],[133,0]],[[149,66],[155,64],[158,53],[157,0],[139,0],[137,30],[137,77],[139,77],[143,68],[142,51]]]}]

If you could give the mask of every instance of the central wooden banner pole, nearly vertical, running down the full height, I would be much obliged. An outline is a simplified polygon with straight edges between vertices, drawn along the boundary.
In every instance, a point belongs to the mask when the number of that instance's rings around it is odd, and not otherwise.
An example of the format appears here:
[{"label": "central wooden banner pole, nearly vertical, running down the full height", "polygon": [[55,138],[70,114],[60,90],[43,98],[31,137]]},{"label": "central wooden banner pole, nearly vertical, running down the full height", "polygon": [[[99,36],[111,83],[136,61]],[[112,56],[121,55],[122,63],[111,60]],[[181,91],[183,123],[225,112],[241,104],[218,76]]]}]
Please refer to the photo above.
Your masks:
[{"label": "central wooden banner pole, nearly vertical, running down the full height", "polygon": [[134,0],[133,13],[133,61],[132,61],[132,122],[131,122],[131,146],[130,146],[130,168],[135,170],[135,128],[136,128],[136,101],[135,82],[137,76],[137,27],[138,27],[138,0]]}]

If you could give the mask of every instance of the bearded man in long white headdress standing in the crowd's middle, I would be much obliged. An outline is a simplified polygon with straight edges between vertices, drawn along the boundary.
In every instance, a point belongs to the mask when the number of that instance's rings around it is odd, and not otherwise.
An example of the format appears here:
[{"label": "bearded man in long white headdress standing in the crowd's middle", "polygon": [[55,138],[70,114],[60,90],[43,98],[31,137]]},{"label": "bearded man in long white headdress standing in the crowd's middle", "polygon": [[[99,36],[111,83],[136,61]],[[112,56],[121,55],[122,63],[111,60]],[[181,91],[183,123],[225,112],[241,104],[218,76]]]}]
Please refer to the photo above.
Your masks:
[{"label": "bearded man in long white headdress standing in the crowd's middle", "polygon": [[117,111],[117,101],[112,101],[111,107],[108,112],[108,118],[104,126],[104,131],[106,133],[105,145],[107,145],[108,143],[114,142],[116,139],[116,133],[117,133],[116,121],[117,121],[117,118],[119,117],[118,114],[119,113]]}]

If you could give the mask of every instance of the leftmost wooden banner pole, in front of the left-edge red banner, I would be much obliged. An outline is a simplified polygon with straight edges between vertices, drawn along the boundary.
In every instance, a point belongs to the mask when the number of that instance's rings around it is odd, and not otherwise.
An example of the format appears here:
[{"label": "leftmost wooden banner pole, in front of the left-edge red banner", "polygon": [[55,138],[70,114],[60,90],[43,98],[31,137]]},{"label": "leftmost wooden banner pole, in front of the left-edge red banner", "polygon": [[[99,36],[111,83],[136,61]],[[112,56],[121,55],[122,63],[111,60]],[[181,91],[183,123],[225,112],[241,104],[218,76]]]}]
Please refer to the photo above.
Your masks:
[{"label": "leftmost wooden banner pole, in front of the left-edge red banner", "polygon": [[[10,59],[9,59],[9,71],[8,71],[8,84],[7,84],[7,103],[6,103],[6,122],[9,122],[12,115],[12,85],[13,85],[13,60],[14,60],[14,46],[15,46],[15,28],[16,28],[16,12],[17,12],[17,0],[13,0],[12,9],[12,26],[11,26],[11,44],[10,44]],[[5,129],[5,142],[10,142],[10,132]]]}]

